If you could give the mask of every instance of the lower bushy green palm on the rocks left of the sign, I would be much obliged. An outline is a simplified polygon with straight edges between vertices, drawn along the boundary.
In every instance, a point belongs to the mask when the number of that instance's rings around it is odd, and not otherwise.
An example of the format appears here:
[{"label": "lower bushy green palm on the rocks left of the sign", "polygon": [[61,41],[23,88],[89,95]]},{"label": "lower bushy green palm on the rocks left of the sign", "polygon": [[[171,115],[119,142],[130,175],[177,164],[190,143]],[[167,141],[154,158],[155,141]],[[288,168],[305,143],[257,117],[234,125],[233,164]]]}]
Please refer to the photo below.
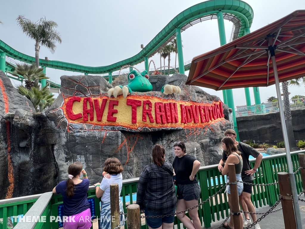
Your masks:
[{"label": "lower bushy green palm on the rocks left of the sign", "polygon": [[27,99],[29,99],[36,112],[42,112],[48,107],[52,105],[54,102],[54,95],[50,94],[50,90],[48,89],[48,85],[45,85],[44,87],[32,87],[31,89],[27,89],[23,85],[17,86],[19,94],[25,96]]}]

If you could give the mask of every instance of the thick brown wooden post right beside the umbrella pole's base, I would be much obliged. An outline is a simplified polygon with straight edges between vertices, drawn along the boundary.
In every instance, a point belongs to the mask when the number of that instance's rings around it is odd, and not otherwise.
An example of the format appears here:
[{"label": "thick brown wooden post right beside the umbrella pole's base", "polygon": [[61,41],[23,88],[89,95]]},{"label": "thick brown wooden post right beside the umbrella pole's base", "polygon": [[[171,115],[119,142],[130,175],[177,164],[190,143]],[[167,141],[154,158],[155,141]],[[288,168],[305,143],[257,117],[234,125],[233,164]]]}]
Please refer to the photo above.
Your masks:
[{"label": "thick brown wooden post right beside the umbrella pole's base", "polygon": [[292,193],[288,173],[278,173],[278,184],[282,199],[282,208],[285,228],[296,229],[296,218],[292,202]]}]

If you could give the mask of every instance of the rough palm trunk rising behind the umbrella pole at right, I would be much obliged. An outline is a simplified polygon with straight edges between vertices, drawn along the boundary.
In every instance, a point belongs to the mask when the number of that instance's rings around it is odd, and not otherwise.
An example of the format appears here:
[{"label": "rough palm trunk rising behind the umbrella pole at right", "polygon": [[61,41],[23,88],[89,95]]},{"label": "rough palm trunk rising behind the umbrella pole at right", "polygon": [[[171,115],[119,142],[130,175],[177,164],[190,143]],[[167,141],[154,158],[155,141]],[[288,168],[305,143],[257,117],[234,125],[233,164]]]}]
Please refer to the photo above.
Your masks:
[{"label": "rough palm trunk rising behind the umbrella pole at right", "polygon": [[297,147],[296,147],[296,140],[293,135],[288,85],[289,85],[288,81],[282,82],[284,116],[285,116],[285,121],[286,121],[289,148],[291,151],[293,151],[293,150],[297,149]]}]

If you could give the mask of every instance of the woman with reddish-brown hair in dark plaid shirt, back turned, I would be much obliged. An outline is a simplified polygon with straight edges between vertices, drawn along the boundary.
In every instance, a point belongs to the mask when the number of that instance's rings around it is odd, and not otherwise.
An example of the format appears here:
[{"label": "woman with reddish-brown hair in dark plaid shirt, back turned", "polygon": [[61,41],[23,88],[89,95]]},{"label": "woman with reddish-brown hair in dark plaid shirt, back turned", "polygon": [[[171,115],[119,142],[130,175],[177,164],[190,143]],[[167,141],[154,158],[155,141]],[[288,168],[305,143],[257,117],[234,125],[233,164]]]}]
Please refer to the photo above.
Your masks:
[{"label": "woman with reddish-brown hair in dark plaid shirt, back turned", "polygon": [[[175,213],[177,197],[173,182],[173,166],[165,162],[165,150],[159,144],[152,149],[152,163],[142,170],[138,182],[137,204],[145,216]],[[174,227],[174,216],[146,218],[149,229]]]}]

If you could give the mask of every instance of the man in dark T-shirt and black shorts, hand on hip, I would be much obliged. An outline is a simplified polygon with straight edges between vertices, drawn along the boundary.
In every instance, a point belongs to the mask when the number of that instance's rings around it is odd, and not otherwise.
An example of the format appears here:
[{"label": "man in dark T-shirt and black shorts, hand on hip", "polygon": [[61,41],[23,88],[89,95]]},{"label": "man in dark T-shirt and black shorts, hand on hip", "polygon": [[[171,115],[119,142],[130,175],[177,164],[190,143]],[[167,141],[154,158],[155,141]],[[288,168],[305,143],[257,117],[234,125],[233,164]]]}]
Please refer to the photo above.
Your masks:
[{"label": "man in dark T-shirt and black shorts, hand on hip", "polygon": [[[242,181],[247,182],[247,183],[252,183],[253,184],[253,174],[257,171],[258,167],[260,166],[260,162],[262,161],[263,155],[258,152],[256,149],[250,147],[247,144],[244,144],[242,142],[236,141],[236,132],[233,129],[228,129],[224,132],[224,136],[228,136],[235,141],[235,145],[237,146],[241,156],[242,156]],[[250,166],[249,162],[249,156],[253,156],[256,158],[255,165],[253,168]],[[223,166],[227,160],[228,156],[225,154],[225,152],[222,152],[222,158],[218,164],[218,170],[221,172],[223,169]],[[242,194],[239,196],[239,202],[240,205],[242,206],[242,210],[244,211],[250,211],[250,212],[255,212],[254,205],[251,201],[251,194],[252,194],[252,185],[249,184],[244,184],[244,189],[242,191]],[[251,220],[249,218],[248,213],[244,213],[245,219],[244,219],[244,224],[243,227],[246,227],[247,225],[251,224]],[[255,214],[251,214],[251,218],[254,221],[257,220],[257,217]],[[259,224],[256,224],[254,226],[255,229],[261,229]]]}]

